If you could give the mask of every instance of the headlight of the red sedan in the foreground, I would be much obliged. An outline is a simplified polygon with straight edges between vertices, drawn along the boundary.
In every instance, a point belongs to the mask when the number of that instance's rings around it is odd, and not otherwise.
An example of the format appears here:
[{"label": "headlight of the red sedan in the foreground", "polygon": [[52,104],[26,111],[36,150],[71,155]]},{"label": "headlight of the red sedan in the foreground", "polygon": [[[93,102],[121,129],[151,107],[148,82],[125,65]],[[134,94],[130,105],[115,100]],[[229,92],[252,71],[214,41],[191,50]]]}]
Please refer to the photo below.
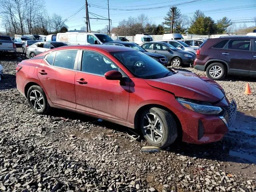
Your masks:
[{"label": "headlight of the red sedan in the foreground", "polygon": [[213,115],[213,114],[219,114],[220,112],[222,112],[222,108],[216,107],[216,106],[198,104],[198,103],[186,101],[180,98],[178,98],[177,101],[185,108],[200,114]]}]

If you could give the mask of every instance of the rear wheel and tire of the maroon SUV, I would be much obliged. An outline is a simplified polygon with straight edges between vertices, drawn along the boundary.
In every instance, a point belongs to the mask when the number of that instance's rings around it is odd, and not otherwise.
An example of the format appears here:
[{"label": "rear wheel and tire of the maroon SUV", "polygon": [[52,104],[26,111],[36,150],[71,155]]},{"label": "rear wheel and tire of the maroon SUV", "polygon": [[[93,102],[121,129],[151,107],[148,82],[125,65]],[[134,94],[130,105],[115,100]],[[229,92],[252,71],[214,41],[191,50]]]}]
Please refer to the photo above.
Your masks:
[{"label": "rear wheel and tire of the maroon SUV", "polygon": [[221,80],[226,76],[226,68],[222,63],[212,63],[206,68],[206,75],[213,80]]}]

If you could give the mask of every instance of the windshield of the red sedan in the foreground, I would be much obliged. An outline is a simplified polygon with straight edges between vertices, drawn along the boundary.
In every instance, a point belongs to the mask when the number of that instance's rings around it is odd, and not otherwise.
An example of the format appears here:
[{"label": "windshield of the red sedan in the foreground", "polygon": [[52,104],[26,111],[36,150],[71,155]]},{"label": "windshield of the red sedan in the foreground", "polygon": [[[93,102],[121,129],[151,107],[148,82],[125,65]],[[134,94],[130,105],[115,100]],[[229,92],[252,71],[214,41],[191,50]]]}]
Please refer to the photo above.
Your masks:
[{"label": "windshield of the red sedan in the foreground", "polygon": [[140,51],[112,52],[111,54],[138,78],[158,79],[174,74],[158,61]]}]

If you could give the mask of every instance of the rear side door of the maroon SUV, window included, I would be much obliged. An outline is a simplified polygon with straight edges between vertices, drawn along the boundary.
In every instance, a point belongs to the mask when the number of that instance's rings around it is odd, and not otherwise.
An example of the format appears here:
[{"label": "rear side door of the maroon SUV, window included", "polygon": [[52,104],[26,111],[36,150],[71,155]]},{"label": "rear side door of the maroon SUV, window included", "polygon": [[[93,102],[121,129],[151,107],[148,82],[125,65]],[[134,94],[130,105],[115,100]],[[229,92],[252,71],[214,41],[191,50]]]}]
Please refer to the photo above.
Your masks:
[{"label": "rear side door of the maroon SUV, window included", "polygon": [[231,73],[249,74],[252,48],[250,39],[232,39],[222,48],[220,58],[228,62]]}]

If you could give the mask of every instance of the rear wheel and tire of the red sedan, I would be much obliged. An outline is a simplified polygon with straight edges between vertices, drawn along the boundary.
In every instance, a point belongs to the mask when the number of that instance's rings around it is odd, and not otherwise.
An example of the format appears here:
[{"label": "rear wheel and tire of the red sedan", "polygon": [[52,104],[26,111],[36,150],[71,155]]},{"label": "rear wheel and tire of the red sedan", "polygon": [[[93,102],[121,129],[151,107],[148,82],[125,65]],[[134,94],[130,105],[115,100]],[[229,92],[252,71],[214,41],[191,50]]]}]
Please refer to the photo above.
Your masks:
[{"label": "rear wheel and tire of the red sedan", "polygon": [[47,102],[46,95],[40,86],[33,85],[28,89],[28,103],[37,114],[47,114],[51,107]]}]

